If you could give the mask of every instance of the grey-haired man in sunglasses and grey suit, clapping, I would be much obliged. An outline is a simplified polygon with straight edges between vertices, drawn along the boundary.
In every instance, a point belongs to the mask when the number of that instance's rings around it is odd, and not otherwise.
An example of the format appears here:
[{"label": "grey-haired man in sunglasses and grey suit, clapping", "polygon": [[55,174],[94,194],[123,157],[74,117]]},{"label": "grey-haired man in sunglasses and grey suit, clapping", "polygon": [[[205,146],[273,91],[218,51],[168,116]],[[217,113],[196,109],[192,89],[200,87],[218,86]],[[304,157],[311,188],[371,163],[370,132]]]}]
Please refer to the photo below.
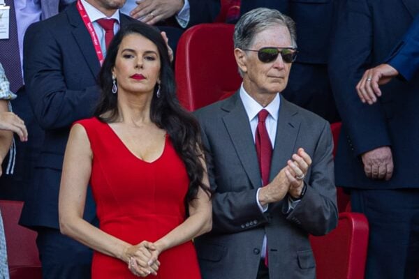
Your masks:
[{"label": "grey-haired man in sunglasses and grey suit, clapping", "polygon": [[195,241],[203,278],[315,278],[308,236],[337,226],[332,135],[327,121],[279,95],[295,24],[251,10],[234,43],[240,90],[196,112],[214,190],[212,232]]}]

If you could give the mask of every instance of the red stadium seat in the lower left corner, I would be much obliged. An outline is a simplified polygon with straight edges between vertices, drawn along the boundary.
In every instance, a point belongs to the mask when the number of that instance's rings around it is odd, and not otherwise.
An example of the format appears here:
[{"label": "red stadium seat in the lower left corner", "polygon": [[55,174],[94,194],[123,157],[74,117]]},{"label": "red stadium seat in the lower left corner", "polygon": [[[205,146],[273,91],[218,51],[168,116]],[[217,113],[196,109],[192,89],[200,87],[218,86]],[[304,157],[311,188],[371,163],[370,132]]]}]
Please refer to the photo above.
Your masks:
[{"label": "red stadium seat in the lower left corner", "polygon": [[41,262],[36,248],[36,232],[17,224],[23,202],[0,200],[8,254],[10,279],[41,279]]}]

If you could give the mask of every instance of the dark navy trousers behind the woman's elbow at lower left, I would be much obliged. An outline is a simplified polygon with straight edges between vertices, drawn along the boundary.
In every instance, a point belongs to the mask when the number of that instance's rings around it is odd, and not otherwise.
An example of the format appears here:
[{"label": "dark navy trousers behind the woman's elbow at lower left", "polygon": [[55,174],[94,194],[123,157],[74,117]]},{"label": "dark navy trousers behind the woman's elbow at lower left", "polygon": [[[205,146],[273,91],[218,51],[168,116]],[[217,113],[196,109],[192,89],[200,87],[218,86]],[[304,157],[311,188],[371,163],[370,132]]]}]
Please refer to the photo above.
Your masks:
[{"label": "dark navy trousers behind the woman's elbow at lower left", "polygon": [[44,279],[89,279],[93,251],[58,229],[38,229],[36,239]]}]

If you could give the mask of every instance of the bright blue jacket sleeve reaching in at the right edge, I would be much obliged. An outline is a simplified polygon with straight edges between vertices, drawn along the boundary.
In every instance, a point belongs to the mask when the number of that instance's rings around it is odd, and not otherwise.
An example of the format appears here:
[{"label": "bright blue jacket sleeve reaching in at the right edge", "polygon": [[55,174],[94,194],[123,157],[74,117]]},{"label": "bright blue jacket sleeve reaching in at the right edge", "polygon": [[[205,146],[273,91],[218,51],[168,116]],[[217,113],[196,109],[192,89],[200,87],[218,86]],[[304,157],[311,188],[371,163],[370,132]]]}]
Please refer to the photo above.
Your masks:
[{"label": "bright blue jacket sleeve reaching in at the right edge", "polygon": [[387,59],[406,80],[411,80],[419,69],[419,15],[411,24],[403,40]]}]

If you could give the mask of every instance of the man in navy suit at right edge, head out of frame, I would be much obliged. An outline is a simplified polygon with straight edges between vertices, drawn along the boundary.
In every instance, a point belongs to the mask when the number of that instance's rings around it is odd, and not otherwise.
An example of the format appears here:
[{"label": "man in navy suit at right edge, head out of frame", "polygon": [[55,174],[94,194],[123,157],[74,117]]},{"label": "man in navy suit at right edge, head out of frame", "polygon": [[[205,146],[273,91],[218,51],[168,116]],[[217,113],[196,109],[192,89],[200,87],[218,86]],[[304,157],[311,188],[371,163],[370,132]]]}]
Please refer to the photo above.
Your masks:
[{"label": "man in navy suit at right edge, head out of frame", "polygon": [[353,211],[369,220],[365,278],[416,278],[419,266],[419,75],[388,82],[374,105],[355,89],[417,15],[416,0],[346,0],[332,40],[329,72],[343,123],[336,183],[351,188]]}]

